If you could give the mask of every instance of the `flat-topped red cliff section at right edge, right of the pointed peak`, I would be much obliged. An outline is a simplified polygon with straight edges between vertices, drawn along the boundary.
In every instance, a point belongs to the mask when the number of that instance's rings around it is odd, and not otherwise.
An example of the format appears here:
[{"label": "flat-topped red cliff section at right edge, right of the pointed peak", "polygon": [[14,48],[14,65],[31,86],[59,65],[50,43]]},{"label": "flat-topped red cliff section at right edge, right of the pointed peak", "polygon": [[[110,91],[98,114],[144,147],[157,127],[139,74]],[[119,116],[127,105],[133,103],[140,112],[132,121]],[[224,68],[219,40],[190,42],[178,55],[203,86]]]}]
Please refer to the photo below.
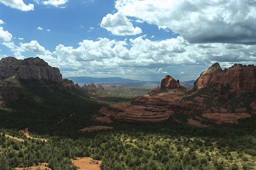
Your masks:
[{"label": "flat-topped red cliff section at right edge, right of the pointed peak", "polygon": [[248,91],[256,90],[256,66],[234,64],[222,71],[218,90],[223,95],[228,90],[231,94],[239,96]]}]

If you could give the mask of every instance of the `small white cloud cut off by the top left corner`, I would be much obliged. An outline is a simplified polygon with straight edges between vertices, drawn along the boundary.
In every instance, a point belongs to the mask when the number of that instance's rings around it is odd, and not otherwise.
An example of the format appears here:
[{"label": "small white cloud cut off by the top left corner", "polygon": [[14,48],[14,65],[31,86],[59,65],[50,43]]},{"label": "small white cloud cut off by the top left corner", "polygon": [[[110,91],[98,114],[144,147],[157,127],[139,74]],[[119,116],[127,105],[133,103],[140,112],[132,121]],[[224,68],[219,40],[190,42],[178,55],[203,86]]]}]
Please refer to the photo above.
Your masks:
[{"label": "small white cloud cut off by the top left corner", "polygon": [[0,0],[5,6],[10,6],[21,11],[30,11],[34,10],[33,4],[26,5],[23,0]]}]

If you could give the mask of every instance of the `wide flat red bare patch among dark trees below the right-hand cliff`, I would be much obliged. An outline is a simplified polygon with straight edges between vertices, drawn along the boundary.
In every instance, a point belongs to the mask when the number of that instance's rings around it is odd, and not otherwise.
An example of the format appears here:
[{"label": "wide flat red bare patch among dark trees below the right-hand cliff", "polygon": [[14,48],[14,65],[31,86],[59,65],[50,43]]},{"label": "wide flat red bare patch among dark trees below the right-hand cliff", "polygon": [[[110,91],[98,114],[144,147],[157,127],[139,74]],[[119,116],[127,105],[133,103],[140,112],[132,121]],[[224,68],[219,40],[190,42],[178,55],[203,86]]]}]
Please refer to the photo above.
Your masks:
[{"label": "wide flat red bare patch among dark trees below the right-hand cliff", "polygon": [[251,117],[248,113],[204,113],[202,116],[217,120],[216,123],[238,123],[238,119]]}]

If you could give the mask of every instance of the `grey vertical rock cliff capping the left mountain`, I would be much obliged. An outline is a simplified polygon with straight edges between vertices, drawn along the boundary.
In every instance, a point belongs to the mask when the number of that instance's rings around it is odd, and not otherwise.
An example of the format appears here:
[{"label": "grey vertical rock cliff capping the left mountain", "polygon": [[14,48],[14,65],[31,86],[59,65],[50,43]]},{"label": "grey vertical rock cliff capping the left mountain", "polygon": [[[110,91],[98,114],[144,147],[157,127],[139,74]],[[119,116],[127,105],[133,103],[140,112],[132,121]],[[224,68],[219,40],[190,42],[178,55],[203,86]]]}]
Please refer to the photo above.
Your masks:
[{"label": "grey vertical rock cliff capping the left mountain", "polygon": [[51,67],[44,60],[27,58],[18,60],[14,57],[6,57],[0,61],[0,79],[15,76],[23,80],[50,80],[62,82],[60,70]]}]

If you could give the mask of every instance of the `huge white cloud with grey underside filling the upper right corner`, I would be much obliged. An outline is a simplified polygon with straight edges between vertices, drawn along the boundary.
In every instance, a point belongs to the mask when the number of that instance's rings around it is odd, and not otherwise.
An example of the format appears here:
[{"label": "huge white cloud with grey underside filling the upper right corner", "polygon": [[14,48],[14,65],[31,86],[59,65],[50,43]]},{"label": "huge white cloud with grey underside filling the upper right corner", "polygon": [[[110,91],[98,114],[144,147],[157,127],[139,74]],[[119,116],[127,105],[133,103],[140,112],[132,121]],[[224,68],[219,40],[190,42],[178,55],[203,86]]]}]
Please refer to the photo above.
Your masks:
[{"label": "huge white cloud with grey underside filling the upper right corner", "polygon": [[190,43],[256,44],[252,0],[116,0],[115,8],[179,33]]}]

